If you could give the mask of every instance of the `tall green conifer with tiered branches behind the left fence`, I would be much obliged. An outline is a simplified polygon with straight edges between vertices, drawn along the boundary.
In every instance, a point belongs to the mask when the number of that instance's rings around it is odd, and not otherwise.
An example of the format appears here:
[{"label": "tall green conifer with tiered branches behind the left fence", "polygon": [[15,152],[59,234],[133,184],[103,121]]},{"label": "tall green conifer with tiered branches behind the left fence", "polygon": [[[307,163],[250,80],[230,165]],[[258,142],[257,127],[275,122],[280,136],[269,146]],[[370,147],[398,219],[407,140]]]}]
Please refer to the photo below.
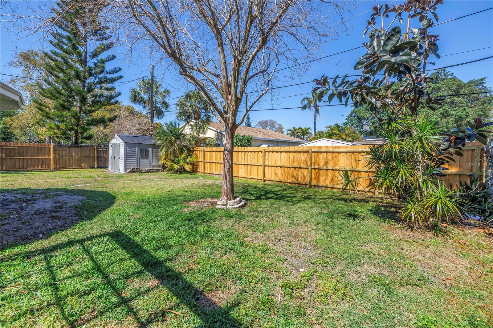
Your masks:
[{"label": "tall green conifer with tiered branches behind the left fence", "polygon": [[[121,68],[106,69],[116,58],[104,55],[114,42],[101,22],[105,3],[88,5],[85,1],[58,1],[53,8],[53,50],[44,51],[48,75],[39,84],[36,108],[47,120],[46,135],[71,138],[72,143],[93,138],[91,128],[105,125],[114,116],[94,115],[114,105],[120,93],[111,84],[122,76]],[[50,101],[47,101],[50,100]]]}]

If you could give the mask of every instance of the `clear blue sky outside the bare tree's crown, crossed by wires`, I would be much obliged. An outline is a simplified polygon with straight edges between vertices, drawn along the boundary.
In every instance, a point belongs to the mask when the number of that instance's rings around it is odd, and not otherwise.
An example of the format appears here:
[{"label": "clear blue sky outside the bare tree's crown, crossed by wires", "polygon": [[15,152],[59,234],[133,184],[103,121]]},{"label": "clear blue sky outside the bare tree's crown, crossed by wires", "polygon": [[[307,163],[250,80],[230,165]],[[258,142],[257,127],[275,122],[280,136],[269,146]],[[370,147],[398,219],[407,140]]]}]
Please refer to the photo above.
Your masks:
[{"label": "clear blue sky outside the bare tree's crown, crossed by wires", "polygon": [[[357,1],[356,8],[352,11],[351,15],[358,15],[367,10],[370,10],[375,3],[383,4],[387,1]],[[18,10],[23,10],[25,4],[18,3]],[[445,0],[444,4],[438,7],[439,22],[447,21],[459,16],[463,16],[469,13],[480,11],[493,7],[493,1],[456,1]],[[347,33],[341,33],[338,39],[327,42],[323,45],[322,51],[325,55],[330,55],[347,49],[351,49],[361,45],[362,42],[366,42],[367,38],[361,34],[366,27],[366,20],[369,19],[370,13],[364,13],[358,15],[355,18],[349,19],[346,23],[349,26]],[[348,15],[348,18],[350,15]],[[472,51],[462,53],[458,55],[450,55],[458,52],[474,50],[485,47],[493,46],[493,10],[488,10],[470,17],[462,18],[453,22],[445,23],[433,28],[433,33],[439,34],[439,54],[442,56],[440,60],[436,60],[435,67],[449,66],[458,63],[473,61],[476,59],[489,57],[493,55],[493,48]],[[0,35],[0,69],[2,73],[6,74],[19,74],[20,71],[6,66],[17,51],[27,49],[41,48],[39,43],[39,37],[27,37],[19,41],[17,44],[14,41],[14,35],[8,31],[8,26],[1,25]],[[460,44],[460,46],[458,46]],[[46,45],[46,44],[45,44]],[[125,52],[126,49],[119,49],[121,52]],[[138,53],[138,49],[135,53]],[[344,75],[346,73],[354,74],[354,63],[358,57],[364,54],[363,49],[356,49],[350,52],[335,55],[328,59],[328,62],[316,62],[313,67],[303,76],[291,76],[290,78],[284,78],[283,82],[278,82],[277,86],[295,84],[299,82],[309,81],[313,78],[319,78],[322,74],[328,76]],[[152,64],[145,56],[140,56],[135,63],[127,63],[123,61],[120,56],[119,59],[113,61],[111,64],[114,66],[122,67],[122,75],[124,76],[121,81],[133,80],[142,75],[148,75],[150,65]],[[158,78],[161,78],[171,91],[171,98],[181,96],[186,90],[183,88],[183,82],[181,77],[176,74],[174,66],[160,66],[154,63],[155,74]],[[282,63],[280,67],[283,67]],[[430,66],[431,67],[431,66]],[[458,78],[467,81],[479,77],[487,77],[487,84],[493,88],[493,59],[449,68],[454,72]],[[1,76],[2,81],[7,81],[8,76]],[[136,86],[137,81],[120,84],[118,90],[122,93],[120,100],[124,103],[129,103],[128,91]],[[308,93],[312,89],[313,85],[304,84],[299,86],[292,86],[279,89],[274,97],[266,95],[262,98],[262,101],[254,109],[265,108],[282,108],[282,107],[296,107],[300,106],[300,100],[304,96],[295,96],[303,93]],[[292,97],[290,97],[292,96]],[[170,100],[174,104],[176,99]],[[174,110],[174,108],[172,108]],[[323,129],[324,126],[334,123],[342,123],[345,117],[349,114],[351,108],[344,106],[322,107],[320,111],[320,118],[317,119],[317,130]],[[281,123],[284,128],[290,128],[292,126],[313,127],[313,113],[309,111],[301,111],[300,109],[285,109],[285,110],[268,110],[268,111],[252,111],[250,117],[255,124],[256,121],[263,119],[273,119]],[[163,122],[172,121],[174,114],[167,115]]]}]

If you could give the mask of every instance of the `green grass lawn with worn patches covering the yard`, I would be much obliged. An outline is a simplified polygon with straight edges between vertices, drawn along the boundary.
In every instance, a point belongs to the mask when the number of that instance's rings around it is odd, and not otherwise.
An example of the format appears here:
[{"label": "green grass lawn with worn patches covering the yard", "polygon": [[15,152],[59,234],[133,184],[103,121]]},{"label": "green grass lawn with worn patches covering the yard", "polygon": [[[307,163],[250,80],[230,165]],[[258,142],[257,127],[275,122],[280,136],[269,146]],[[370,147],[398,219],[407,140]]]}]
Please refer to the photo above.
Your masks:
[{"label": "green grass lawn with worn patches covering the yard", "polygon": [[384,198],[235,180],[246,207],[219,210],[184,203],[219,197],[199,174],[0,178],[85,197],[69,228],[3,246],[2,327],[493,325],[492,240],[407,230]]}]

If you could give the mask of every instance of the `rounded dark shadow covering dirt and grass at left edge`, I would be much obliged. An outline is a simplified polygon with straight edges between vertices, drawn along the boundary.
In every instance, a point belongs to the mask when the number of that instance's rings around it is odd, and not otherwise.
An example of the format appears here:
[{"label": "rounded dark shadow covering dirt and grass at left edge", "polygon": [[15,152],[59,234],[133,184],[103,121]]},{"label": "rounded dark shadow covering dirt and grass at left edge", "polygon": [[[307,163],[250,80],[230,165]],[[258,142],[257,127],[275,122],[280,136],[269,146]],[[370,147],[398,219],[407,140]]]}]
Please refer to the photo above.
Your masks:
[{"label": "rounded dark shadow covering dirt and grass at left edge", "polygon": [[3,189],[1,246],[12,247],[91,220],[111,207],[115,197],[103,191],[47,188]]}]

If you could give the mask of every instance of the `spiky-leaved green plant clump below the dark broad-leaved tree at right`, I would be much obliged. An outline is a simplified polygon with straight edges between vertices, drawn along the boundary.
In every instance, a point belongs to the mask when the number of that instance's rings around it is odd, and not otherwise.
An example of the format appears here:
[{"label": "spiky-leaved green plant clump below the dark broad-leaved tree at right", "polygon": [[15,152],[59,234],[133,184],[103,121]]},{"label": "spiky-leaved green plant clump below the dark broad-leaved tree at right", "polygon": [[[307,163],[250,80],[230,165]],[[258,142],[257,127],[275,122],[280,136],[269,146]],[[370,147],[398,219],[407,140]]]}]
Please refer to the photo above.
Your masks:
[{"label": "spiky-leaved green plant clump below the dark broad-leaved tree at right", "polygon": [[436,121],[424,115],[389,119],[383,124],[388,142],[365,151],[366,165],[375,169],[375,188],[402,199],[400,213],[408,224],[428,224],[433,216],[437,222],[460,217],[459,199],[438,180],[446,158],[460,145],[453,149],[443,145]]}]

